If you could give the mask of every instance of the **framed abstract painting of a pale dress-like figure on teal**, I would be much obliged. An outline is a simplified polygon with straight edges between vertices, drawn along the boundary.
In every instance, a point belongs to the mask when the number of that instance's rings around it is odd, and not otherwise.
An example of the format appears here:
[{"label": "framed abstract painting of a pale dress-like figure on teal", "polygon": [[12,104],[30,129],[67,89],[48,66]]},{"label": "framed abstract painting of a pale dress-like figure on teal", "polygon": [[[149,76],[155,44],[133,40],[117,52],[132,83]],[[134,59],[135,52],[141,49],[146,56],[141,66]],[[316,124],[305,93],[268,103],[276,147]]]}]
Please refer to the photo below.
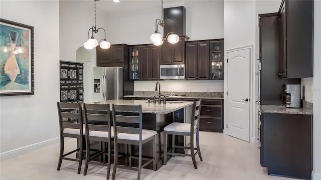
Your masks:
[{"label": "framed abstract painting of a pale dress-like figure on teal", "polygon": [[34,94],[34,27],[0,19],[0,96]]}]

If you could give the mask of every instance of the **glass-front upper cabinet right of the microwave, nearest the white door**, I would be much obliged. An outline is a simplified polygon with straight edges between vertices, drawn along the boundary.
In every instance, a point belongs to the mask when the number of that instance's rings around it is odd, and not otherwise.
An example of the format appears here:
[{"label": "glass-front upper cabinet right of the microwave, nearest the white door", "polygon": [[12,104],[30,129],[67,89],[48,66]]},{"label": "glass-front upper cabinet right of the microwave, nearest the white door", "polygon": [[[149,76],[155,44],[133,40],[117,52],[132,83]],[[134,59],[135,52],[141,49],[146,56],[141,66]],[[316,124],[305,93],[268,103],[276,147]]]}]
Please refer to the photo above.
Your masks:
[{"label": "glass-front upper cabinet right of the microwave, nearest the white door", "polygon": [[212,80],[224,79],[224,41],[213,41],[211,49],[211,76]]}]

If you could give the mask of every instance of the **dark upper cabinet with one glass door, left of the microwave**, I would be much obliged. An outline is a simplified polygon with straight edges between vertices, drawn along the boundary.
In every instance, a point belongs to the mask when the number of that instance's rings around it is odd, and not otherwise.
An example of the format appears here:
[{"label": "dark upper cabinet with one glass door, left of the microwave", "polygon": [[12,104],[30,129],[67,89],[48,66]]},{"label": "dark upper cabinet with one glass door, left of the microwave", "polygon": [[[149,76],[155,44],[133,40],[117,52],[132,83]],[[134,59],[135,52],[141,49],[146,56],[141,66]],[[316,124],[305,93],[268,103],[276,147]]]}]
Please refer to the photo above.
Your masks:
[{"label": "dark upper cabinet with one glass door, left of the microwave", "polygon": [[133,57],[130,61],[131,80],[158,80],[159,61],[162,59],[162,46],[142,45],[130,47]]}]

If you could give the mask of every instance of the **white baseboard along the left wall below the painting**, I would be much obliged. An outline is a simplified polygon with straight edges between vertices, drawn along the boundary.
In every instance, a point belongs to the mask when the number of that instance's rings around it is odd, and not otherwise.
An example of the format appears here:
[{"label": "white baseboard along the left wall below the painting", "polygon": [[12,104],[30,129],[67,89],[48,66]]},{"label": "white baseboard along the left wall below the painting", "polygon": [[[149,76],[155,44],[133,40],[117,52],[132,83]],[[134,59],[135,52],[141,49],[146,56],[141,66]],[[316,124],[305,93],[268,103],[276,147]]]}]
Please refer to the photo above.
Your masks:
[{"label": "white baseboard along the left wall below the painting", "polygon": [[0,161],[11,159],[29,152],[59,143],[59,137],[48,139],[35,144],[27,145],[7,152],[0,153]]}]

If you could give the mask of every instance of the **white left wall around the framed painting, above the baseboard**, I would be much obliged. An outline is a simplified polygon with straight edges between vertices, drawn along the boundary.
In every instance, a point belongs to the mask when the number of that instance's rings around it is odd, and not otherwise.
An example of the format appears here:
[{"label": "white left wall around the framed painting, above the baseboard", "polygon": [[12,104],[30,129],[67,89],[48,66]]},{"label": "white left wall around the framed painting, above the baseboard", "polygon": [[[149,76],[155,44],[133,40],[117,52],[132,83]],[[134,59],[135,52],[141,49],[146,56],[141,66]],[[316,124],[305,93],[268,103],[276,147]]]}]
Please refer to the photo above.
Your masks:
[{"label": "white left wall around the framed painting, above the baseboard", "polygon": [[1,18],[34,27],[35,46],[35,95],[0,97],[3,156],[59,136],[59,2],[1,1],[0,5]]}]

